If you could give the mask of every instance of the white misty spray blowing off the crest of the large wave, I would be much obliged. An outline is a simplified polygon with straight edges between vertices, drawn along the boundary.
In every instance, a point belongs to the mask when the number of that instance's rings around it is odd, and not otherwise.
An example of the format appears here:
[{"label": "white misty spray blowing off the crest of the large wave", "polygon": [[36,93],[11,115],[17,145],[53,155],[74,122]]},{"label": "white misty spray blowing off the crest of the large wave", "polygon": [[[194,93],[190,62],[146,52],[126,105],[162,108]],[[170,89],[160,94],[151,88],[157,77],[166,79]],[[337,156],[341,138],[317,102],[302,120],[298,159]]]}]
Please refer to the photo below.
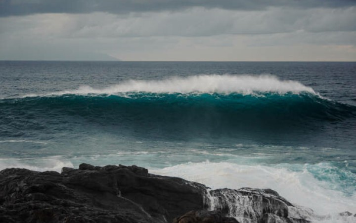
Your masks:
[{"label": "white misty spray blowing off the crest of the large wave", "polygon": [[[189,77],[173,77],[164,80],[129,80],[103,89],[81,86],[76,90],[49,93],[49,95],[65,94],[106,94],[116,95],[129,92],[147,93],[295,93],[308,92],[315,94],[311,87],[292,80],[279,80],[272,75],[198,75]],[[39,95],[26,95],[26,97]]]}]

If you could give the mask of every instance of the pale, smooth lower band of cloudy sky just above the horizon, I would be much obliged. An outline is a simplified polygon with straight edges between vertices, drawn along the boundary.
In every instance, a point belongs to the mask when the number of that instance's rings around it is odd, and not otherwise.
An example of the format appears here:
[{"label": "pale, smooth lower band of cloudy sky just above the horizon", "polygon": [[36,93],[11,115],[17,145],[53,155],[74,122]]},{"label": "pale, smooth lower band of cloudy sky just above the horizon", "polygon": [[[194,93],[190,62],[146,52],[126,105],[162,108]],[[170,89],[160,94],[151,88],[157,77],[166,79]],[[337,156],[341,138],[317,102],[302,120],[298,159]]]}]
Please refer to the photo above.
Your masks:
[{"label": "pale, smooth lower band of cloudy sky just above the horizon", "polygon": [[[110,55],[123,60],[356,60],[356,47],[338,38],[322,40],[323,33],[220,35],[209,37],[49,38],[40,35],[0,35],[0,59],[101,60]],[[350,39],[356,33],[349,33]],[[305,40],[307,40],[306,43]],[[332,43],[329,41],[332,40]],[[283,43],[278,43],[279,41]],[[320,45],[321,44],[321,45]],[[337,44],[337,45],[335,45]],[[98,55],[101,54],[101,55]],[[106,56],[107,57],[107,56]]]}]

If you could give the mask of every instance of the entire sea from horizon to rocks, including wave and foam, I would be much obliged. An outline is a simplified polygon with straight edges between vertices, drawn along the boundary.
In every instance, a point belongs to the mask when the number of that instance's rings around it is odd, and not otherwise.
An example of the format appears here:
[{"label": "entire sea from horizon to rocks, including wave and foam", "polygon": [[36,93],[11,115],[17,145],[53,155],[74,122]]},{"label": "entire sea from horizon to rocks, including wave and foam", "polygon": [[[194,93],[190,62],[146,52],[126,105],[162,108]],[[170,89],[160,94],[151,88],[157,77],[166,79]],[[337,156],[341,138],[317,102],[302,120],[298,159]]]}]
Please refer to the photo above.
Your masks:
[{"label": "entire sea from horizon to rocks, including wave and foam", "polygon": [[355,222],[356,62],[0,61],[0,169],[84,162]]}]

